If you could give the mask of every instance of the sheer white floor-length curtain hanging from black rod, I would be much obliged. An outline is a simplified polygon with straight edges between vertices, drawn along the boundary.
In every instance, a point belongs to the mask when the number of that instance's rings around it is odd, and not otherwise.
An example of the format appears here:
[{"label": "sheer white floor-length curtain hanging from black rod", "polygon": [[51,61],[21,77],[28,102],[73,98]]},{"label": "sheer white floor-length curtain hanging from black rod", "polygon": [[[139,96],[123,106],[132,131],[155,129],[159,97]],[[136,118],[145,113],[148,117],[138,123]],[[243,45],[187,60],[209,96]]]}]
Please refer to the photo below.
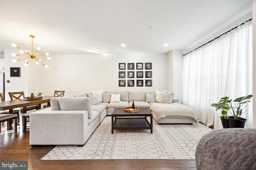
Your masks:
[{"label": "sheer white floor-length curtain hanging from black rod", "polygon": [[[185,55],[183,69],[183,104],[200,122],[222,129],[211,104],[252,94],[252,20]],[[241,117],[252,128],[252,102]]]}]

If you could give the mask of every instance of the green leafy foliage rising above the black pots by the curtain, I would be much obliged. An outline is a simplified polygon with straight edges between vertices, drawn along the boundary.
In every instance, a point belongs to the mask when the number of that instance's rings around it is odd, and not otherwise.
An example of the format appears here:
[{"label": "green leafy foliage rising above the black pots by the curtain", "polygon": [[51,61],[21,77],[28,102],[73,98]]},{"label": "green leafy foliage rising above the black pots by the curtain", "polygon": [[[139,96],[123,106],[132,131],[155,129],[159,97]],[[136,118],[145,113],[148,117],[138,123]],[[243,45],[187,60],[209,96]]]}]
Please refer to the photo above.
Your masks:
[{"label": "green leafy foliage rising above the black pots by the curtain", "polygon": [[233,102],[229,97],[221,98],[218,103],[214,103],[211,106],[215,107],[215,110],[221,110],[221,114],[225,119],[228,119],[228,112],[234,117],[234,119],[240,119],[240,116],[245,112],[247,102],[251,102],[252,95],[236,98]]}]

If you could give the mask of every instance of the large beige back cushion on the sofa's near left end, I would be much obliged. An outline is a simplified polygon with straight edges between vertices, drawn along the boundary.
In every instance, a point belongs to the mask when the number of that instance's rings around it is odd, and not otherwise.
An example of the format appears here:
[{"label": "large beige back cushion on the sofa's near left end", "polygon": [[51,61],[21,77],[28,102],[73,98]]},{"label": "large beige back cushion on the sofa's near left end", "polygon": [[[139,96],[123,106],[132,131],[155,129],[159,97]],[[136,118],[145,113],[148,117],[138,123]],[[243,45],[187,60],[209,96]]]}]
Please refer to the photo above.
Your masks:
[{"label": "large beige back cushion on the sofa's near left end", "polygon": [[60,110],[86,110],[88,111],[88,118],[92,118],[90,98],[60,98],[59,103]]}]

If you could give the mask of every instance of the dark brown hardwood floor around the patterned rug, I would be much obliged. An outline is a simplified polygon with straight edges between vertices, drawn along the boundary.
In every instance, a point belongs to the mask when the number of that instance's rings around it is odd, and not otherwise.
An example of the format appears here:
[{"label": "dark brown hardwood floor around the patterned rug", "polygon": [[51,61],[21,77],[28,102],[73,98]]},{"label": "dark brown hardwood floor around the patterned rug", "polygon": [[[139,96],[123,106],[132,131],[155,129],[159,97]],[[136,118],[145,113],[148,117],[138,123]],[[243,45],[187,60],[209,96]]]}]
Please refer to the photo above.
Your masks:
[{"label": "dark brown hardwood floor around the patterned rug", "polygon": [[195,170],[195,160],[40,160],[55,146],[31,147],[29,129],[0,133],[0,160],[28,161],[33,170]]}]

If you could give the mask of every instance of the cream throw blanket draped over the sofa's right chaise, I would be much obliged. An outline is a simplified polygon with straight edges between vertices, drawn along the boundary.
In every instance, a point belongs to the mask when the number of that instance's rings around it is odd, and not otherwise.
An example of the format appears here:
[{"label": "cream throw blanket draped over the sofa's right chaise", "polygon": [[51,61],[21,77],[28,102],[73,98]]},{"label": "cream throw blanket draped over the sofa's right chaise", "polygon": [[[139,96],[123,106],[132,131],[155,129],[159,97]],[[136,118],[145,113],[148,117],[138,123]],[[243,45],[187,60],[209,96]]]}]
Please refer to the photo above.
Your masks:
[{"label": "cream throw blanket draped over the sofa's right chaise", "polygon": [[156,113],[156,118],[158,120],[170,116],[183,116],[192,117],[194,119],[194,122],[197,123],[197,117],[194,110],[183,104],[155,103],[152,104],[149,108]]}]

